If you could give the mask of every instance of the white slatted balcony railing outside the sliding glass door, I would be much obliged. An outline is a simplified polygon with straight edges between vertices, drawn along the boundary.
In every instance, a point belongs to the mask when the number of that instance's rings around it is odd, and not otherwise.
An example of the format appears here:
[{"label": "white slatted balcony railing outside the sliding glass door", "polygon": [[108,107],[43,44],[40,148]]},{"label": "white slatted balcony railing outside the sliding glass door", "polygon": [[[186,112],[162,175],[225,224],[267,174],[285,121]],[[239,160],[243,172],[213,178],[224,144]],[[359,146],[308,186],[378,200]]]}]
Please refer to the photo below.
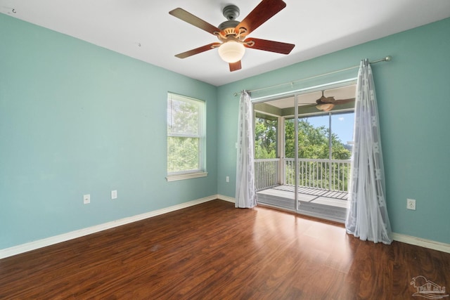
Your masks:
[{"label": "white slatted balcony railing outside the sliding glass door", "polygon": [[[295,185],[295,160],[255,159],[255,185],[257,190],[271,188],[278,184]],[[350,160],[341,159],[298,159],[298,185],[305,188],[321,188],[347,192]],[[282,174],[283,176],[279,176]]]}]

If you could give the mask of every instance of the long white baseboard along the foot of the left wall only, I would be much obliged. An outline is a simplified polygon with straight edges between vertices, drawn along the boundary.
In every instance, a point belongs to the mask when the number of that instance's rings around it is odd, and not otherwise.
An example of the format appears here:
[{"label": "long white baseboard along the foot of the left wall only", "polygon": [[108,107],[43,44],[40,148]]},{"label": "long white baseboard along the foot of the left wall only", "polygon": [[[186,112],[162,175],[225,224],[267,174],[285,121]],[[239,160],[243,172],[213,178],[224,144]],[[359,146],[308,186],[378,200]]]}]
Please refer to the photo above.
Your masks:
[{"label": "long white baseboard along the foot of the left wall only", "polygon": [[[17,246],[13,246],[13,247],[10,247],[10,248],[0,249],[0,259],[4,259],[6,257],[17,255],[17,254],[21,254],[21,253],[24,253],[24,252],[29,252],[29,251],[32,251],[34,249],[47,247],[47,246],[50,246],[52,244],[58,244],[60,242],[65,242],[65,241],[68,241],[68,240],[72,240],[72,239],[75,239],[77,237],[82,237],[84,235],[90,235],[92,233],[98,233],[99,231],[103,231],[103,230],[110,229],[110,228],[115,228],[117,226],[122,226],[122,225],[125,225],[125,224],[128,224],[128,223],[141,221],[143,219],[151,218],[152,216],[158,216],[160,214],[166,214],[166,213],[171,212],[171,211],[184,209],[186,207],[191,207],[193,205],[197,205],[197,204],[200,204],[200,203],[203,203],[203,202],[208,202],[208,201],[215,200],[215,199],[221,199],[221,198],[219,198],[219,195],[212,195],[210,197],[205,197],[205,198],[198,199],[198,200],[193,200],[193,201],[190,201],[190,202],[176,204],[176,205],[174,205],[172,207],[166,207],[164,209],[157,209],[155,211],[149,211],[149,212],[147,212],[145,214],[138,214],[136,216],[130,216],[130,217],[127,217],[127,218],[124,218],[124,219],[110,221],[110,222],[99,224],[99,225],[96,225],[96,226],[91,226],[91,227],[88,227],[88,228],[83,228],[83,229],[80,229],[80,230],[71,231],[70,233],[63,233],[62,235],[55,235],[53,237],[47,237],[47,238],[44,238],[42,240],[37,240],[37,241],[33,241],[33,242],[27,242],[25,244],[19,244]],[[223,200],[226,200],[226,199],[223,199]],[[226,200],[226,201],[228,201],[228,200]]]}]

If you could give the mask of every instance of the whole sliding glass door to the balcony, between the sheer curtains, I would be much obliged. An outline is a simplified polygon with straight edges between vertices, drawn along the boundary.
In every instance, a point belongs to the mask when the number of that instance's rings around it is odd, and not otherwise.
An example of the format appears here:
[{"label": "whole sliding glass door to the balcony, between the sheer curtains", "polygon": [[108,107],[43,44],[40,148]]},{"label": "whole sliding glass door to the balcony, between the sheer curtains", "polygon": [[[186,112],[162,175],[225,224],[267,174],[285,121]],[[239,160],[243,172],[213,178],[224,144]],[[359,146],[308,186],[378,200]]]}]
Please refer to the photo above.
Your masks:
[{"label": "whole sliding glass door to the balcony, between the sheer curtains", "polygon": [[[354,92],[339,86],[255,103],[260,204],[344,221]],[[332,105],[318,105],[322,97]]]}]

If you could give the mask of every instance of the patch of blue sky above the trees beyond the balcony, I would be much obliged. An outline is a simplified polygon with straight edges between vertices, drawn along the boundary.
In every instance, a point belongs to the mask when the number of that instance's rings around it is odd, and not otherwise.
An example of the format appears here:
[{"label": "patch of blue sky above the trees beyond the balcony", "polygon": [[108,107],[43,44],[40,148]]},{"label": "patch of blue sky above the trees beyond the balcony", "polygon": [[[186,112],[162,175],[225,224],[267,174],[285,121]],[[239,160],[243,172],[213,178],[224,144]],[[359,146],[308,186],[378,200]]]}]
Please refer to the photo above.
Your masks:
[{"label": "patch of blue sky above the trees beyond the balcony", "polygon": [[[328,128],[328,115],[308,117],[309,124],[314,127],[326,126]],[[353,141],[354,112],[331,115],[331,132],[336,133],[342,143]]]}]

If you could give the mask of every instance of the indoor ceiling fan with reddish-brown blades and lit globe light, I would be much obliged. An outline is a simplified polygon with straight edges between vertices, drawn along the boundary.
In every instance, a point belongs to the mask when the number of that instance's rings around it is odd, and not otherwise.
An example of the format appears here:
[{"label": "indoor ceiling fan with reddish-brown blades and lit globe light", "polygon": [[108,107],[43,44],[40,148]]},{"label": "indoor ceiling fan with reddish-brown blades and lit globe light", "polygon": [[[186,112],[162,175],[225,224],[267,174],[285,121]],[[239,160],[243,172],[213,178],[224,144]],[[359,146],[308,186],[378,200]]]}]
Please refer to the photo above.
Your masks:
[{"label": "indoor ceiling fan with reddish-brown blades and lit globe light", "polygon": [[240,70],[240,60],[244,56],[245,48],[289,54],[295,47],[294,44],[247,37],[250,32],[257,29],[257,27],[261,26],[266,20],[272,18],[276,13],[285,8],[285,6],[285,2],[281,0],[262,0],[253,11],[247,15],[247,17],[239,22],[236,20],[240,13],[238,6],[228,5],[225,6],[222,11],[227,20],[217,27],[188,13],[182,8],[175,8],[173,11],[169,11],[169,14],[184,20],[201,30],[214,34],[220,41],[179,53],[176,57],[187,58],[213,48],[219,48],[219,56],[222,60],[225,60],[226,63],[229,63],[230,71],[233,72]]}]

